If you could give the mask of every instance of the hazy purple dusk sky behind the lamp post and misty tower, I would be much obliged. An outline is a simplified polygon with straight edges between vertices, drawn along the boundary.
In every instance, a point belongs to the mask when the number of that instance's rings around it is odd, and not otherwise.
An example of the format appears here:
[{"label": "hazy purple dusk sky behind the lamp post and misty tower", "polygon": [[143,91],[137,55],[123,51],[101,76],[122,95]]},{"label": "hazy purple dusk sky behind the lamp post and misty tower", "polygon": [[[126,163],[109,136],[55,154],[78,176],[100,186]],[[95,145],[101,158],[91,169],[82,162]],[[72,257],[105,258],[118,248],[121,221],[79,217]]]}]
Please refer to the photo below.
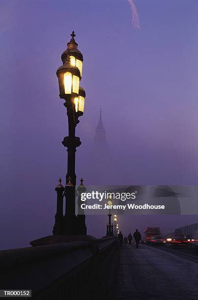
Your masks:
[{"label": "hazy purple dusk sky behind the lamp post and misty tower", "polygon": [[[56,70],[72,30],[86,91],[77,182],[101,105],[117,166],[107,184],[198,185],[198,0],[0,0],[0,249],[27,247],[52,231],[68,134]],[[125,234],[198,222],[131,218],[122,217]],[[88,216],[88,234],[105,235],[106,219]]]}]

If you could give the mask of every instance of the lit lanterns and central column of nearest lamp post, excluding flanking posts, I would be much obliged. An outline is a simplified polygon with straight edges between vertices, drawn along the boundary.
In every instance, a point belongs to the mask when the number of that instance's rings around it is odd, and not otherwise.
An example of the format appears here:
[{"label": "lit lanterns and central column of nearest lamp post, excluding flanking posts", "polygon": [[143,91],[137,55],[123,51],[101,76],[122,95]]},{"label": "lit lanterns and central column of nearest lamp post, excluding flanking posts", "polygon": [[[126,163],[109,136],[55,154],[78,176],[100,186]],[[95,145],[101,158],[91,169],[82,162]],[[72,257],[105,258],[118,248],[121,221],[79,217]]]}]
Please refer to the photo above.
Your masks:
[{"label": "lit lanterns and central column of nearest lamp post, excluding flanking posts", "polygon": [[[62,53],[61,59],[63,65],[60,66],[56,72],[58,77],[60,98],[65,100],[64,106],[67,108],[68,116],[68,128],[69,134],[64,137],[62,144],[67,147],[68,152],[68,166],[66,175],[66,215],[68,218],[68,212],[70,212],[71,222],[75,223],[75,187],[76,175],[75,175],[75,151],[76,148],[81,145],[80,138],[75,136],[75,126],[79,123],[78,118],[83,115],[84,112],[84,100],[85,91],[79,86],[79,81],[82,78],[82,53],[77,49],[77,43],[74,40],[74,31],[71,34],[72,38],[67,44],[67,49]],[[70,177],[70,180],[69,180]],[[70,183],[69,183],[70,182]],[[68,185],[69,183],[69,185]],[[65,234],[78,234],[76,232],[76,225],[68,225],[69,220],[66,222],[66,226],[71,230],[65,231]]]}]

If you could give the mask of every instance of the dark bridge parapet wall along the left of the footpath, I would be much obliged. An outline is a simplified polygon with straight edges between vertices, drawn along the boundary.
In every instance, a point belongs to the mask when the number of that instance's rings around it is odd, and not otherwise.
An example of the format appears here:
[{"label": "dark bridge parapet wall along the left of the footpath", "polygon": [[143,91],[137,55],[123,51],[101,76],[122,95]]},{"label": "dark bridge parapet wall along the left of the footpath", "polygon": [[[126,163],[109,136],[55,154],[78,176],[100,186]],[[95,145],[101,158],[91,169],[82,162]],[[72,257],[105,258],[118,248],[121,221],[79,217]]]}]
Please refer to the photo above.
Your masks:
[{"label": "dark bridge parapet wall along the left of the footpath", "polygon": [[36,300],[108,299],[116,278],[114,237],[0,251],[0,289]]}]

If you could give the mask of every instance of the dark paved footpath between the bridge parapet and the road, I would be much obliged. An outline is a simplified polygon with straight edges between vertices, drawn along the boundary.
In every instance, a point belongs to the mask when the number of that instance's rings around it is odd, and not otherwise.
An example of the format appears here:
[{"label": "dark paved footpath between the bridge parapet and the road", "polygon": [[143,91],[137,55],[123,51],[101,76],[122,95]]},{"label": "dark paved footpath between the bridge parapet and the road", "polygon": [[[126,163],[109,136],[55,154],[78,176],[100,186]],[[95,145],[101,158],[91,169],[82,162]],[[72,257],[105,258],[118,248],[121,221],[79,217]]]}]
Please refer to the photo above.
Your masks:
[{"label": "dark paved footpath between the bridge parapet and the road", "polygon": [[198,300],[198,263],[157,247],[123,245],[117,299]]}]

